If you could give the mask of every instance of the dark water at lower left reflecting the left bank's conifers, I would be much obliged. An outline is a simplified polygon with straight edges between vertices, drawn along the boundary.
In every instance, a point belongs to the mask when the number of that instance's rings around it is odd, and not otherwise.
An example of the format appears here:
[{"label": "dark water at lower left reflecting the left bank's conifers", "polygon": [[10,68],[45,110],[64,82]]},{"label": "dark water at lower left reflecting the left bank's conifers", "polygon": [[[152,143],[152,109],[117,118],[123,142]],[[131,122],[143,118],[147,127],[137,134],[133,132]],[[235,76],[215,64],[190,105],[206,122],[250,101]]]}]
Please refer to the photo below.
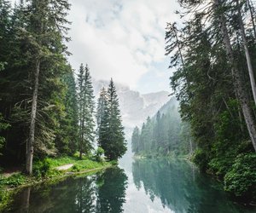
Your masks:
[{"label": "dark water at lower left reflecting the left bank's conifers", "polygon": [[9,212],[123,212],[127,176],[114,167],[96,176],[67,178],[57,184],[28,187]]}]

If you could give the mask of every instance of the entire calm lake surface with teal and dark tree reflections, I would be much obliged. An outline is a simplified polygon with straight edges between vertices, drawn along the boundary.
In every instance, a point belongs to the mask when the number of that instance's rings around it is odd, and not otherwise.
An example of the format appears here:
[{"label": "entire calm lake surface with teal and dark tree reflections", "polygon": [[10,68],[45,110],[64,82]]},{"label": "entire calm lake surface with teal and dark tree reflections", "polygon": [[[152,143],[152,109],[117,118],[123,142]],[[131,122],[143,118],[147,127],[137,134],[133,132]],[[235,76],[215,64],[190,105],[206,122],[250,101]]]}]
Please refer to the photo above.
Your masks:
[{"label": "entire calm lake surface with teal and dark tree reflections", "polygon": [[141,159],[17,194],[9,212],[240,213],[217,181],[184,160]]}]

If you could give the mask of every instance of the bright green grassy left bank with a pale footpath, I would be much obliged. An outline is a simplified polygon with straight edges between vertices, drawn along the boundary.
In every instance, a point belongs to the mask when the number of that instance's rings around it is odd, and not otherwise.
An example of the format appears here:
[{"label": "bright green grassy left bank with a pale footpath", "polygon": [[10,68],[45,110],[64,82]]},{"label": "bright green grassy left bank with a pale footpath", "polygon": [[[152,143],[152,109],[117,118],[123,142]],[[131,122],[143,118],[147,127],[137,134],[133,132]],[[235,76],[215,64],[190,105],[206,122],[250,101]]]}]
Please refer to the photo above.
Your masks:
[{"label": "bright green grassy left bank with a pale footpath", "polygon": [[105,170],[113,164],[116,162],[96,162],[90,158],[45,158],[33,165],[33,176],[26,176],[19,170],[12,173],[0,173],[0,211],[11,203],[15,193],[23,187],[32,187],[43,182],[61,181],[68,176],[92,174]]}]

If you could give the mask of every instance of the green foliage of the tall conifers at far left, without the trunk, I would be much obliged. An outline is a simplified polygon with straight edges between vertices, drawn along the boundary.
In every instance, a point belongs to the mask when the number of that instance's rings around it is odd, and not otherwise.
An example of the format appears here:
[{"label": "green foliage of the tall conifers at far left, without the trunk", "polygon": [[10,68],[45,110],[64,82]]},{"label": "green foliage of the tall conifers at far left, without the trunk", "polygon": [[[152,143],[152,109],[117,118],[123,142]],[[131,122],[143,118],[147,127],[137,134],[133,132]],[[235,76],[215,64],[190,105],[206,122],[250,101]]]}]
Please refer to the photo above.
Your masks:
[{"label": "green foliage of the tall conifers at far left, without the trunk", "polygon": [[[29,0],[12,9],[9,1],[0,1],[0,146],[4,138],[9,144],[1,149],[2,164],[25,163],[38,59],[34,156],[72,155],[78,148],[76,85],[66,47],[69,7],[66,0]],[[2,124],[11,126],[3,130]]]}]

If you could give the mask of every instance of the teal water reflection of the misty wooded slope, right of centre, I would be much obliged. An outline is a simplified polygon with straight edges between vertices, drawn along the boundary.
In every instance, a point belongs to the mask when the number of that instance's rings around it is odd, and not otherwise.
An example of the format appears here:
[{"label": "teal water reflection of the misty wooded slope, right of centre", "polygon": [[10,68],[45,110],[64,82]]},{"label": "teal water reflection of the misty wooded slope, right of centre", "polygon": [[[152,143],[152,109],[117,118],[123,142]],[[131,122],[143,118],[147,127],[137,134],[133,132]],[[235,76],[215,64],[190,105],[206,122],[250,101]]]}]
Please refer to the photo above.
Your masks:
[{"label": "teal water reflection of the misty wooded slope, right of centre", "polygon": [[132,176],[138,190],[144,189],[152,202],[159,198],[174,212],[239,212],[220,193],[216,181],[184,160],[138,159],[132,164]]}]

